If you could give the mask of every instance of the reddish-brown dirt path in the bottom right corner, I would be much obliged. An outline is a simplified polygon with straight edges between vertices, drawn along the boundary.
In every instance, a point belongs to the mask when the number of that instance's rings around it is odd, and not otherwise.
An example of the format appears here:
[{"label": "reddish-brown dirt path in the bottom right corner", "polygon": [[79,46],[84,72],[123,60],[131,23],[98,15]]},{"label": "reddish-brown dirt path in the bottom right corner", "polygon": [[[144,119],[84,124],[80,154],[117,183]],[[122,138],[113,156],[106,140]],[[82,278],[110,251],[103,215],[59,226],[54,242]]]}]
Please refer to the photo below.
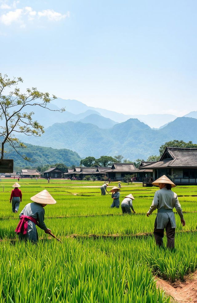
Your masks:
[{"label": "reddish-brown dirt path in the bottom right corner", "polygon": [[159,279],[157,287],[165,290],[167,295],[174,298],[177,303],[197,303],[197,271],[189,276],[186,283],[180,282],[178,287],[173,287],[167,281]]}]

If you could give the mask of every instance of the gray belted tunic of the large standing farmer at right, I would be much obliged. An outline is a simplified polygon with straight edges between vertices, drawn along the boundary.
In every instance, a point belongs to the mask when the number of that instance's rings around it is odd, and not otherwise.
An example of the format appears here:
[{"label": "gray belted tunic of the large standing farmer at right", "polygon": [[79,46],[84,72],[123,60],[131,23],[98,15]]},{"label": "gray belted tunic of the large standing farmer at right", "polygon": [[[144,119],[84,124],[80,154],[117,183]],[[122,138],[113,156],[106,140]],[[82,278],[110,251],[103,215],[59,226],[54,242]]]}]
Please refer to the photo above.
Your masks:
[{"label": "gray belted tunic of the large standing farmer at right", "polygon": [[[151,204],[149,212],[152,213],[156,208],[172,210],[174,207],[178,212],[180,218],[183,219],[183,212],[177,194],[175,192],[172,192],[170,189],[162,188],[155,192],[155,196],[153,198],[153,202]],[[157,229],[165,228],[169,219],[172,228],[176,228],[174,212],[157,213]]]}]

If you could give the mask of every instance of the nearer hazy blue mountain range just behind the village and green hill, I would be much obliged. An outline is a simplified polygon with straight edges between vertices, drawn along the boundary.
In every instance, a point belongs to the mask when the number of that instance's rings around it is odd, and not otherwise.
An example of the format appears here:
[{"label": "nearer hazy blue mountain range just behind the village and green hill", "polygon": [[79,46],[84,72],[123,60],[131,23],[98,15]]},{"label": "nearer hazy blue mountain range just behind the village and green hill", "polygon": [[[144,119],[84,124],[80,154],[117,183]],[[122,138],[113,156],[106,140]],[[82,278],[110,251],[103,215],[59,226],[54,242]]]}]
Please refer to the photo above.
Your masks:
[{"label": "nearer hazy blue mountain range just behind the village and green hill", "polygon": [[82,122],[54,123],[41,137],[22,136],[22,141],[76,151],[81,157],[123,155],[135,160],[158,155],[159,147],[170,140],[197,143],[197,119],[179,117],[159,130],[153,130],[138,119],[128,119],[109,129]]}]

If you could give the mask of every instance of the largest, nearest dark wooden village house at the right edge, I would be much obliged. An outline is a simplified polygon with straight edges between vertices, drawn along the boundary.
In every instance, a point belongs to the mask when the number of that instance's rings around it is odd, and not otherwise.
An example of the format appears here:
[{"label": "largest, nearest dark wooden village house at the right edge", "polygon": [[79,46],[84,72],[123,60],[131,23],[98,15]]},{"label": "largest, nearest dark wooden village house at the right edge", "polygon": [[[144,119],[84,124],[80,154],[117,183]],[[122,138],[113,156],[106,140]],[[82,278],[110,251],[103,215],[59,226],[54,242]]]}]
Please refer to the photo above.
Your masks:
[{"label": "largest, nearest dark wooden village house at the right edge", "polygon": [[173,176],[175,184],[197,183],[197,148],[166,147],[159,161],[143,166],[153,170],[153,180]]}]

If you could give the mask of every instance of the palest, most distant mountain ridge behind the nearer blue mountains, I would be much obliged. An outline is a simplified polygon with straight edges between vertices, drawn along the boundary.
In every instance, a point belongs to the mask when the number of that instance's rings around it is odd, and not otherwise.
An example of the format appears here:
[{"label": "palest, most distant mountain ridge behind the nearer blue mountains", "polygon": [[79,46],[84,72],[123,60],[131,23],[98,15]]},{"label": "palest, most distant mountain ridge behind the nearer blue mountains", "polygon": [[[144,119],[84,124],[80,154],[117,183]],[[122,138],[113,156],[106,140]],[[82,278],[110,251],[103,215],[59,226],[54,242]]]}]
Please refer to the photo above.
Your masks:
[{"label": "palest, most distant mountain ridge behind the nearer blue mountains", "polygon": [[[53,125],[54,123],[81,121],[88,116],[90,117],[87,118],[85,122],[92,123],[101,128],[110,128],[116,123],[125,122],[131,118],[137,118],[150,127],[159,128],[160,126],[163,126],[164,124],[169,123],[177,118],[175,115],[169,114],[124,115],[115,111],[108,111],[98,107],[90,107],[77,100],[64,100],[61,98],[51,101],[48,107],[50,109],[48,111],[45,108],[38,106],[34,106],[31,109],[35,114],[33,119],[38,120],[45,128]],[[58,112],[58,110],[62,107],[65,107],[66,111],[62,113]],[[91,115],[97,116],[94,116],[93,119]]]}]

